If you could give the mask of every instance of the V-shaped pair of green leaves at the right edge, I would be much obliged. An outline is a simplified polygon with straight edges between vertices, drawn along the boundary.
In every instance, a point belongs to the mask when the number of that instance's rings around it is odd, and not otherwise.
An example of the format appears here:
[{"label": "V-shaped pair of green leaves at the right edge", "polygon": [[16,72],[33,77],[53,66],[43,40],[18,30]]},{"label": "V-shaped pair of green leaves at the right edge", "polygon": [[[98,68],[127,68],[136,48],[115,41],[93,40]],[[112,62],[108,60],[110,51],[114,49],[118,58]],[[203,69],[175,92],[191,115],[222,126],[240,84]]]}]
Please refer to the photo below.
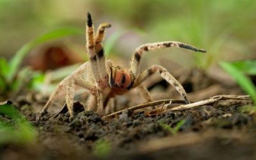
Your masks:
[{"label": "V-shaped pair of green leaves at the right edge", "polygon": [[256,76],[256,60],[236,62],[221,61],[220,65],[235,79],[244,92],[248,93],[248,95],[252,97],[256,104],[256,86],[246,76],[246,74]]}]

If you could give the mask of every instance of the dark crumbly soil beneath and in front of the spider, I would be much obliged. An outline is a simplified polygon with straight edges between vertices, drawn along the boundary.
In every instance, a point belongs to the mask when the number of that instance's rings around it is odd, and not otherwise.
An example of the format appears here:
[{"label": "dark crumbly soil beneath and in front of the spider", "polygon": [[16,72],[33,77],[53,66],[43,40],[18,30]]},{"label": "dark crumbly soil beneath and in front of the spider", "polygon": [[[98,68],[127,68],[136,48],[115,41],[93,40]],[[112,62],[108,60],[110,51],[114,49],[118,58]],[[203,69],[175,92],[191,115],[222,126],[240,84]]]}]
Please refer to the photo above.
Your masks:
[{"label": "dark crumbly soil beneath and in front of the spider", "polygon": [[[189,95],[198,94],[196,101],[211,97],[209,90],[214,95],[242,93],[237,87],[221,84],[211,77],[205,79],[208,81],[204,84],[188,78],[182,83],[186,90],[190,88]],[[165,85],[162,83],[148,86],[156,93],[154,87]],[[168,89],[161,91],[170,96],[169,92]],[[84,111],[83,104],[76,102],[76,116],[71,122],[65,110],[54,118],[48,113],[35,122],[36,104],[42,108],[42,102],[19,99],[15,104],[35,125],[38,140],[28,145],[2,145],[0,159],[256,158],[256,110],[250,99],[220,99],[191,109],[166,109],[164,113],[157,110],[151,115],[153,112],[148,110],[126,109],[121,115],[108,119]],[[183,123],[177,132],[170,131],[180,122]]]}]

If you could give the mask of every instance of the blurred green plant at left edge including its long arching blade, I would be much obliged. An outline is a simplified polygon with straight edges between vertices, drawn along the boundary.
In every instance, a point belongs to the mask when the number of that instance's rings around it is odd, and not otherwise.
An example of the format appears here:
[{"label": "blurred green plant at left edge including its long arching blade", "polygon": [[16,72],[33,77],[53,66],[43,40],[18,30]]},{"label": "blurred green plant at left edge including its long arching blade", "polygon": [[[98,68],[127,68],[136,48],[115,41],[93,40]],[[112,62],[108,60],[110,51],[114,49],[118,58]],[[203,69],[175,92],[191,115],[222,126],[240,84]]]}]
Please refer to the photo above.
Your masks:
[{"label": "blurred green plant at left edge including its long arching blade", "polygon": [[78,34],[83,34],[83,31],[77,28],[61,28],[49,31],[23,45],[9,62],[4,58],[0,58],[0,94],[6,91],[18,90],[28,80],[29,76],[33,77],[33,74],[36,73],[31,72],[28,68],[20,69],[20,64],[31,49],[56,38]]}]

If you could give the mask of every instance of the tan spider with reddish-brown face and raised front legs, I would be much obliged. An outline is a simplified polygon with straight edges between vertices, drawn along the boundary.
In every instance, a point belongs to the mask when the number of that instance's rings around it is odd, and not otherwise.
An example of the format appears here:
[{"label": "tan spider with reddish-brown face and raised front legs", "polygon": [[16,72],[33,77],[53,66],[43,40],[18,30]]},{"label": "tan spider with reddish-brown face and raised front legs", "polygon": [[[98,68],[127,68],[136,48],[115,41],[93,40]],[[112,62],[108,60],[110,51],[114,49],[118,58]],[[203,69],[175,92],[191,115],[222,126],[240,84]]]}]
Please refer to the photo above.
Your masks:
[{"label": "tan spider with reddish-brown face and raised front legs", "polygon": [[[109,101],[115,95],[122,95],[132,88],[139,88],[141,95],[148,101],[152,101],[152,97],[145,88],[143,81],[150,77],[155,72],[159,72],[160,76],[170,83],[179,92],[181,97],[189,104],[188,97],[182,85],[166,70],[159,65],[153,65],[143,72],[140,72],[141,56],[145,51],[154,51],[166,47],[181,47],[197,52],[206,52],[204,49],[198,49],[192,45],[181,42],[168,41],[156,42],[152,44],[143,44],[137,47],[132,54],[131,64],[129,68],[113,66],[111,60],[105,60],[103,46],[101,44],[104,39],[106,28],[111,27],[111,24],[100,24],[96,35],[94,33],[92,17],[87,14],[86,24],[86,49],[88,51],[88,62],[83,63],[77,70],[72,72],[70,76],[63,79],[56,87],[54,92],[49,97],[42,111],[37,117],[40,118],[47,112],[49,106],[55,99],[60,97],[60,93],[65,90],[65,97],[70,119],[74,117],[73,100],[75,86],[80,86],[89,91],[87,109],[97,111],[100,115],[106,115],[106,111],[111,111],[111,106],[108,106]],[[108,107],[107,107],[108,106]]]}]

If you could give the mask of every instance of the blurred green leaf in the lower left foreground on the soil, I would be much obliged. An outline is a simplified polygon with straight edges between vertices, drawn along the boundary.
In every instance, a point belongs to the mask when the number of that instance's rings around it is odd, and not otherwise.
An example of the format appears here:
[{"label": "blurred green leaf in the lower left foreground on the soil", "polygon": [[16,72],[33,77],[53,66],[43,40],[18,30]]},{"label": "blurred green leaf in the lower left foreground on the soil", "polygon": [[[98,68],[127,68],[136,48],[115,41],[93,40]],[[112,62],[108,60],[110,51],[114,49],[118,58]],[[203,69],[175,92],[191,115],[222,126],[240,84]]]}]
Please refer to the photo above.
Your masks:
[{"label": "blurred green leaf in the lower left foreground on the soil", "polygon": [[0,105],[0,115],[0,146],[35,142],[34,127],[12,105]]}]

